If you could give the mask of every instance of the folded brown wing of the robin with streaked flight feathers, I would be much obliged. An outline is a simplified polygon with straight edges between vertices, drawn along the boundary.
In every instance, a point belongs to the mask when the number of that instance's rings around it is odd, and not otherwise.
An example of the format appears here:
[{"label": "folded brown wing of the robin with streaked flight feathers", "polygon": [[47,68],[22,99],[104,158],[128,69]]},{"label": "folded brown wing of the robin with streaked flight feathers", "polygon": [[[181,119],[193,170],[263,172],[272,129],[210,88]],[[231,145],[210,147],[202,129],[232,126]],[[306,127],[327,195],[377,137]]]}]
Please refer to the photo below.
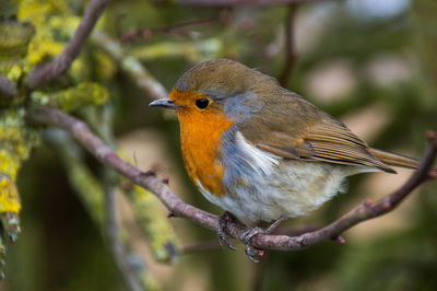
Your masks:
[{"label": "folded brown wing of the robin with streaked flight feathers", "polygon": [[286,159],[394,170],[341,121],[292,93],[264,103],[262,113],[246,119],[240,131],[258,148]]}]

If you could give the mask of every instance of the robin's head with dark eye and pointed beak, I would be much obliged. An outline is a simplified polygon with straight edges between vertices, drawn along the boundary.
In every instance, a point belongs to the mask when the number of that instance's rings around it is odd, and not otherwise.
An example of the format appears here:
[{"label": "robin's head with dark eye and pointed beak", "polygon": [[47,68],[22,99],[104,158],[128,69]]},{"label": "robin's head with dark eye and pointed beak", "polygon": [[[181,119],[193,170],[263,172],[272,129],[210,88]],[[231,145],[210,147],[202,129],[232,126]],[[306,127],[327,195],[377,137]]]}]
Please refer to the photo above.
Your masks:
[{"label": "robin's head with dark eye and pointed beak", "polygon": [[236,123],[259,112],[264,105],[263,93],[274,88],[277,84],[272,78],[237,61],[210,60],[188,70],[168,100],[150,106],[176,109],[179,121],[186,116],[200,121],[220,115]]}]

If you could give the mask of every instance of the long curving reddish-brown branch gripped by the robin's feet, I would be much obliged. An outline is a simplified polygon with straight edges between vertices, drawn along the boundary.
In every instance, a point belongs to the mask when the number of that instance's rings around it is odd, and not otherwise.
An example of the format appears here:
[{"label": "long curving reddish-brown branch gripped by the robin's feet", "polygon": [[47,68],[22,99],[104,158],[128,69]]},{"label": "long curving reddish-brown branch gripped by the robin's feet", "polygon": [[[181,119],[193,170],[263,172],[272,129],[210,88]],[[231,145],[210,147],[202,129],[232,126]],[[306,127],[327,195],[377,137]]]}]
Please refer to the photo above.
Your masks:
[{"label": "long curving reddish-brown branch gripped by the robin's feet", "polygon": [[[108,146],[96,137],[88,127],[81,120],[61,113],[55,108],[38,107],[29,112],[31,123],[60,127],[71,132],[71,135],[92,153],[97,160],[110,166],[119,174],[129,178],[132,183],[154,193],[157,198],[175,217],[184,217],[210,230],[217,230],[218,218],[214,214],[200,210],[184,202],[177,197],[162,181],[151,172],[141,172],[133,165],[120,159]],[[328,226],[318,231],[307,232],[299,236],[287,235],[267,235],[258,234],[251,240],[255,247],[270,249],[291,249],[297,251],[304,247],[318,244],[323,241],[338,238],[339,235],[358,224],[362,221],[382,216],[392,211],[413,189],[427,181],[430,176],[428,170],[433,164],[437,153],[437,136],[435,132],[428,133],[429,150],[412,177],[397,191],[387,196],[385,199],[371,203],[365,202],[344,214]],[[247,228],[239,222],[227,224],[231,235],[244,238]],[[342,241],[342,240],[339,240]]]}]

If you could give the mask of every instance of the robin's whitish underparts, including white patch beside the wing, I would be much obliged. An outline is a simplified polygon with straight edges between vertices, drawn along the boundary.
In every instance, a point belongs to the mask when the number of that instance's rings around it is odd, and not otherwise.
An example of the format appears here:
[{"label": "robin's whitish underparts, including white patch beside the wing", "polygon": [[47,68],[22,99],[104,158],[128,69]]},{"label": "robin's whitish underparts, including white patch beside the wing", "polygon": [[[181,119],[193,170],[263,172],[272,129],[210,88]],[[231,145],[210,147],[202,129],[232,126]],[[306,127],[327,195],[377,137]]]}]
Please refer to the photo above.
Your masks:
[{"label": "robin's whitish underparts, including white patch beside the wing", "polygon": [[250,146],[239,132],[233,153],[225,165],[225,196],[197,183],[211,202],[252,222],[306,214],[341,191],[344,177],[353,174],[350,166],[282,159]]}]

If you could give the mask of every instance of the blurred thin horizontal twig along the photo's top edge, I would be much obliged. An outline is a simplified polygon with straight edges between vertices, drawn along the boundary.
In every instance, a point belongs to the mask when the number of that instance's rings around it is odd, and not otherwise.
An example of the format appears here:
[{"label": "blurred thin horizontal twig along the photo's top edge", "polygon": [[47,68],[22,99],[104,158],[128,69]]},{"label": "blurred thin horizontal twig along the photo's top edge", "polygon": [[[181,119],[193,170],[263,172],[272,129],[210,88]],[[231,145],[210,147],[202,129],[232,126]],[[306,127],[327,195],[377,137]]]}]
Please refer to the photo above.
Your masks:
[{"label": "blurred thin horizontal twig along the photo's top edge", "polygon": [[223,5],[272,5],[272,4],[299,4],[314,3],[327,0],[179,0],[179,4],[223,7]]}]

